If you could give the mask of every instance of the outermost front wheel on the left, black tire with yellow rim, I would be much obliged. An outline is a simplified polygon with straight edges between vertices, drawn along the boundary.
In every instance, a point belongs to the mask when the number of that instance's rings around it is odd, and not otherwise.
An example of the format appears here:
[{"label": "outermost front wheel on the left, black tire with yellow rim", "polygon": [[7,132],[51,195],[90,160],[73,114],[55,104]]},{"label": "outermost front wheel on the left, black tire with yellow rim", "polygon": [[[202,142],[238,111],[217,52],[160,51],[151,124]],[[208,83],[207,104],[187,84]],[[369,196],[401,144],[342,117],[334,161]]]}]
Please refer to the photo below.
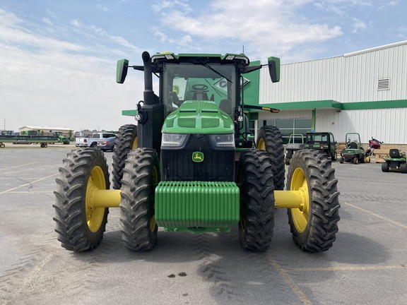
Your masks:
[{"label": "outermost front wheel on the left, black tire with yellow rim", "polygon": [[110,188],[106,158],[100,150],[69,152],[59,168],[54,191],[55,231],[61,246],[70,251],[95,249],[107,224],[108,208],[93,208],[90,194]]}]

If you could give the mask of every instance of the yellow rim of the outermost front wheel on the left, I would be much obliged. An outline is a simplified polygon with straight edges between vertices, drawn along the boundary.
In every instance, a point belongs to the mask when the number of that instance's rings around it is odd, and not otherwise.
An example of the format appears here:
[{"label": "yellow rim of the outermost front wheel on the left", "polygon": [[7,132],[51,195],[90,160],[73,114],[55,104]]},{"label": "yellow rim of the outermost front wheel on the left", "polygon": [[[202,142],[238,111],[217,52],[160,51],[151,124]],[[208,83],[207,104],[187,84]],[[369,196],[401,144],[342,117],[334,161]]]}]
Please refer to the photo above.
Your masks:
[{"label": "yellow rim of the outermost front wheel on the left", "polygon": [[99,189],[106,189],[105,174],[101,167],[93,167],[88,179],[85,198],[86,222],[90,231],[97,232],[105,217],[105,208],[93,207],[93,193]]}]

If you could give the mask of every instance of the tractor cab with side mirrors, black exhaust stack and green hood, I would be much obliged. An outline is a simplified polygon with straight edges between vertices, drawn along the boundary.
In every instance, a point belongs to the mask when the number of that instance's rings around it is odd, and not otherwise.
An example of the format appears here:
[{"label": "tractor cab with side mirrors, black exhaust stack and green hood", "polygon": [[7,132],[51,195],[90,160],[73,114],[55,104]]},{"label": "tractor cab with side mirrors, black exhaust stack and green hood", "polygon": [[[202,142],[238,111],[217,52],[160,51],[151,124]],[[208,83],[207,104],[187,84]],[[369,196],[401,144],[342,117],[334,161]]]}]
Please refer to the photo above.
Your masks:
[{"label": "tractor cab with side mirrors, black exhaust stack and green hood", "polygon": [[[233,149],[254,147],[244,109],[278,112],[278,109],[244,104],[244,73],[269,66],[273,82],[280,77],[280,61],[269,57],[266,65],[250,66],[244,54],[143,53],[143,66],[118,61],[117,83],[123,83],[127,69],[144,71],[144,100],[138,103],[138,146],[159,154],[163,141],[177,134],[219,134],[220,145]],[[153,92],[152,75],[160,79],[159,95]],[[157,128],[162,126],[160,130]],[[231,136],[232,135],[232,136]],[[233,143],[225,143],[232,139]]]}]

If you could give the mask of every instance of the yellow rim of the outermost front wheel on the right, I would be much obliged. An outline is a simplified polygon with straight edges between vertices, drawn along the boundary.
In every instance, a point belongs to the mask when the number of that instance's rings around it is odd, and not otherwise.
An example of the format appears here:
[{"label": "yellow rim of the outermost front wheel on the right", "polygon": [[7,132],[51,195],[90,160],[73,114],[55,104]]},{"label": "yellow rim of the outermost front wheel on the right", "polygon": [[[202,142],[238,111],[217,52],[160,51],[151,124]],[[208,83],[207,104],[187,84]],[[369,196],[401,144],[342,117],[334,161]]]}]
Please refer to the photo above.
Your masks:
[{"label": "yellow rim of the outermost front wheel on the right", "polygon": [[296,168],[293,173],[293,178],[291,179],[290,185],[291,191],[300,191],[302,196],[302,206],[301,208],[292,208],[291,215],[293,217],[293,224],[298,232],[302,233],[305,231],[308,223],[309,214],[309,193],[308,184],[305,174],[300,168]]}]

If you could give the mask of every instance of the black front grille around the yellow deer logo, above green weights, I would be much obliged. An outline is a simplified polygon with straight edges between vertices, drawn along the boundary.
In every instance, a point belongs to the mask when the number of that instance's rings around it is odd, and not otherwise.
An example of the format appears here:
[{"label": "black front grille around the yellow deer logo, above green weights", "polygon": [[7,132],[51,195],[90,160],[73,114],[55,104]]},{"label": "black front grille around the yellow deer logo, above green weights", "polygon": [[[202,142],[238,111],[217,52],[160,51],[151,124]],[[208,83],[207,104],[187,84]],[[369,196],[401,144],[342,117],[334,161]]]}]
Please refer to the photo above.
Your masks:
[{"label": "black front grille around the yellow deer logo, above green weights", "polygon": [[[192,154],[203,152],[204,161]],[[206,135],[191,135],[183,150],[161,150],[162,181],[234,181],[235,150],[214,150]]]}]

